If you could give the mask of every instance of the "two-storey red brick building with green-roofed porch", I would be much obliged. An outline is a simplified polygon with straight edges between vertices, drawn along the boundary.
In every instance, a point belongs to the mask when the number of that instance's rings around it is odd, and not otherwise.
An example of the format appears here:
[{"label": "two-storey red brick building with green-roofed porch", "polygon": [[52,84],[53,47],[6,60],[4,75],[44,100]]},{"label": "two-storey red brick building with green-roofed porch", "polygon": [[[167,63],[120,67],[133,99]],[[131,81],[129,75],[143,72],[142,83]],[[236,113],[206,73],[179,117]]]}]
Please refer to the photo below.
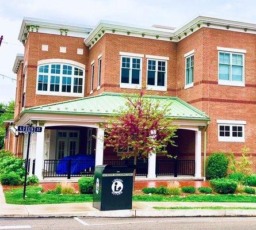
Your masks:
[{"label": "two-storey red brick building with green-roofed porch", "polygon": [[[139,162],[138,174],[201,179],[207,155],[250,148],[256,163],[256,24],[196,17],[181,28],[100,21],[95,27],[24,18],[18,39],[14,121],[6,122],[6,149],[24,157],[26,135],[18,125],[40,125],[33,135],[30,173],[63,176],[73,162],[120,163],[98,127],[124,105],[122,94],[146,89],[152,99],[173,102],[178,147]],[[12,131],[10,130],[10,131]],[[14,133],[15,135],[10,135]],[[11,144],[10,144],[11,143]],[[124,150],[123,150],[124,151]],[[85,158],[85,156],[87,158]],[[78,163],[80,162],[80,163]],[[74,166],[90,174],[93,166]],[[89,167],[90,166],[90,167]]]}]

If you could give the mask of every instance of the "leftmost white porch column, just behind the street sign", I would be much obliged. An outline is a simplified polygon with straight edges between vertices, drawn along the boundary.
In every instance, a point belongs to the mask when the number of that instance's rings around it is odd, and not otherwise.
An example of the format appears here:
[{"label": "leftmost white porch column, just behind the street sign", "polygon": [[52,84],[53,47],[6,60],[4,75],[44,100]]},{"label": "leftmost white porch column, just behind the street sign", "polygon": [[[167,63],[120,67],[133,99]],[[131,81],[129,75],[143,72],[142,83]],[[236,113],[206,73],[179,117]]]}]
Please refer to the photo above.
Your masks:
[{"label": "leftmost white porch column, just behind the street sign", "polygon": [[[35,134],[34,134],[35,135]],[[42,132],[36,133],[36,162],[35,162],[35,175],[39,179],[43,179],[43,162],[44,159],[44,126]]]}]

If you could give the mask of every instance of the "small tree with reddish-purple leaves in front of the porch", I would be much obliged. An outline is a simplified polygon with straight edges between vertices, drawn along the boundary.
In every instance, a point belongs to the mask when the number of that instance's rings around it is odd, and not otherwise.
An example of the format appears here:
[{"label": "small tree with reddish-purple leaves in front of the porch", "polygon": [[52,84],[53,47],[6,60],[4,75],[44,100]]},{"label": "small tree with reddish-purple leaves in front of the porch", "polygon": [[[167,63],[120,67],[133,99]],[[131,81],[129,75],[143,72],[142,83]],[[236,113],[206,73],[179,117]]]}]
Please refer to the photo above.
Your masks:
[{"label": "small tree with reddish-purple leaves in front of the porch", "polygon": [[177,126],[167,118],[170,102],[161,102],[158,97],[148,97],[145,91],[125,97],[127,102],[101,127],[105,129],[105,147],[128,150],[122,159],[148,158],[162,152],[168,143],[174,145]]}]

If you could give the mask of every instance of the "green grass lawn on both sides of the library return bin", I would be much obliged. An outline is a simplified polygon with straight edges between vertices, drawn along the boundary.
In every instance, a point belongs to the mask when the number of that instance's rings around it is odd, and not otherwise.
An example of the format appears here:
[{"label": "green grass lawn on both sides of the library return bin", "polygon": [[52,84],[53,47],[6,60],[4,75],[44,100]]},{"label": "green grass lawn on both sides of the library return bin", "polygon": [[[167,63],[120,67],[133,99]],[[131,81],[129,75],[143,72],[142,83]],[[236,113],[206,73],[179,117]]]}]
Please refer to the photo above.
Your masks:
[{"label": "green grass lawn on both sides of the library return bin", "polygon": [[[41,187],[28,186],[26,198],[22,199],[23,188],[7,190],[5,199],[8,204],[59,204],[73,202],[92,202],[93,195],[58,195],[50,193],[38,193]],[[173,202],[256,202],[256,196],[251,195],[189,195],[186,197],[170,197],[161,195],[136,195],[133,201],[173,201]]]}]

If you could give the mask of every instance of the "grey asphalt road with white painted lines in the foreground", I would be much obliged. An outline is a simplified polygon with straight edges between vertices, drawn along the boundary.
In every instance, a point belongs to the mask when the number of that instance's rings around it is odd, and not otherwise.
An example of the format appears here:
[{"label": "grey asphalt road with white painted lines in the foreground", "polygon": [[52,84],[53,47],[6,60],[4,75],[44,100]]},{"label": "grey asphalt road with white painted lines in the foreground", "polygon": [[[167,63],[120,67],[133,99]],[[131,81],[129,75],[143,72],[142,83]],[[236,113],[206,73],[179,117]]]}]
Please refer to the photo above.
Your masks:
[{"label": "grey asphalt road with white painted lines in the foreground", "polygon": [[256,217],[0,218],[0,229],[254,230]]}]

